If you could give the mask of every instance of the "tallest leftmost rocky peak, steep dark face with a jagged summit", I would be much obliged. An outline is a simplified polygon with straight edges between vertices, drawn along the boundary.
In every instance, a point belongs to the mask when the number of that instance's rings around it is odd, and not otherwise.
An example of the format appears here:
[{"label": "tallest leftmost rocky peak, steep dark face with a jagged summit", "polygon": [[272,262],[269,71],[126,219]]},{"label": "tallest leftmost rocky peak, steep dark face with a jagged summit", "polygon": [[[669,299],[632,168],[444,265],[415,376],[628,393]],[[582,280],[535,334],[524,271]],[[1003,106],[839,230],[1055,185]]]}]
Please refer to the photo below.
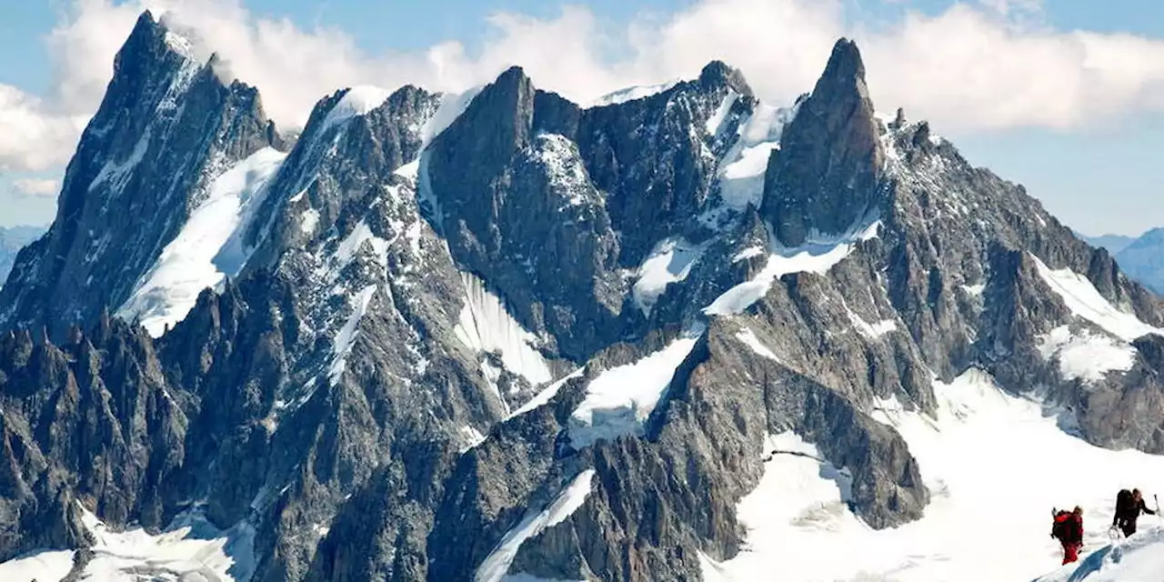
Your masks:
[{"label": "tallest leftmost rocky peak, steep dark face with a jagged summit", "polygon": [[[149,293],[158,256],[187,219],[232,192],[227,184],[215,189],[221,175],[282,146],[258,92],[223,81],[164,21],[142,13],[118,52],[65,172],[57,220],[0,291],[0,327],[47,325],[56,340],[70,324],[88,326],[102,307]],[[142,217],[147,227],[126,222]],[[152,301],[140,299],[139,307]],[[130,318],[139,312],[130,311]]]}]

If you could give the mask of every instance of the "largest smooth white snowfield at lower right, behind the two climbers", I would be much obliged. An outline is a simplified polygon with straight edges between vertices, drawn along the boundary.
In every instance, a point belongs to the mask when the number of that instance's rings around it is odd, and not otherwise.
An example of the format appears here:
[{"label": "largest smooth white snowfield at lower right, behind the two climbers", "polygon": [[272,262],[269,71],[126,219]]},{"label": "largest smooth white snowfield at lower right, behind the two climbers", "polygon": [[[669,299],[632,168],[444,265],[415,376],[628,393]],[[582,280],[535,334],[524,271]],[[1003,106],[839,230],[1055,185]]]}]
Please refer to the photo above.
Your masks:
[{"label": "largest smooth white snowfield at lower right, behind the two climbers", "polygon": [[[1141,487],[1150,498],[1148,488],[1164,483],[1164,456],[1091,446],[985,372],[936,383],[935,393],[935,418],[892,406],[874,412],[917,459],[932,495],[925,517],[874,531],[844,504],[843,483],[826,462],[778,454],[740,503],[748,530],[743,552],[709,563],[712,574],[772,580],[778,567],[783,582],[1034,580],[1062,561],[1049,535],[1053,506],[1084,508],[1086,553],[1107,544],[1120,489]],[[1156,518],[1141,523],[1144,530]]]}]

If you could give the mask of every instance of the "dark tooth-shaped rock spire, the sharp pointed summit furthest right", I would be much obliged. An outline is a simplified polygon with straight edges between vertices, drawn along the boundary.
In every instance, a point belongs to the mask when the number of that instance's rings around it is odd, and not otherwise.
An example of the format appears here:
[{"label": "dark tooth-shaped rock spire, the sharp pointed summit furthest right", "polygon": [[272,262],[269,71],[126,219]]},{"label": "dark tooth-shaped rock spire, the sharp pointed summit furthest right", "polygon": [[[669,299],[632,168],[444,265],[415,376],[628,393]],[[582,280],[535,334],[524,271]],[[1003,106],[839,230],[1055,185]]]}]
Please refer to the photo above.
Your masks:
[{"label": "dark tooth-shaped rock spire, the sharp pointed summit furthest right", "polygon": [[762,213],[780,242],[844,233],[873,210],[885,161],[880,132],[860,51],[842,38],[768,165]]}]

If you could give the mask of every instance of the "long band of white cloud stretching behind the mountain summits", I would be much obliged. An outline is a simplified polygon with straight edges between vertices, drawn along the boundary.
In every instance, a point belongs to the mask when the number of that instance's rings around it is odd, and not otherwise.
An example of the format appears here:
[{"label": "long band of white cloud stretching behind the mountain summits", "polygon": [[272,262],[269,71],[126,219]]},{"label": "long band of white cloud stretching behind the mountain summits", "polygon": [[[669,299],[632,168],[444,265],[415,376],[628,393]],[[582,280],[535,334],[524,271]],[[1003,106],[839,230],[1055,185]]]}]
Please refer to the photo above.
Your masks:
[{"label": "long band of white cloud stretching behind the mountain summits", "polygon": [[858,41],[879,108],[906,107],[939,132],[1070,129],[1164,109],[1164,42],[1051,30],[1038,0],[908,12],[889,28],[846,26],[840,0],[701,0],[624,26],[604,26],[580,7],[549,20],[502,13],[488,21],[491,41],[473,55],[456,42],[369,55],[342,30],[261,17],[239,0],[73,0],[48,38],[51,93],[35,98],[0,85],[0,168],[41,170],[68,159],[146,7],[175,10],[225,57],[223,71],[260,88],[283,126],[303,123],[319,98],[343,86],[460,90],[511,64],[541,87],[587,101],[631,84],[690,78],[719,58],[740,68],[761,97],[787,102],[811,90],[838,36]]}]

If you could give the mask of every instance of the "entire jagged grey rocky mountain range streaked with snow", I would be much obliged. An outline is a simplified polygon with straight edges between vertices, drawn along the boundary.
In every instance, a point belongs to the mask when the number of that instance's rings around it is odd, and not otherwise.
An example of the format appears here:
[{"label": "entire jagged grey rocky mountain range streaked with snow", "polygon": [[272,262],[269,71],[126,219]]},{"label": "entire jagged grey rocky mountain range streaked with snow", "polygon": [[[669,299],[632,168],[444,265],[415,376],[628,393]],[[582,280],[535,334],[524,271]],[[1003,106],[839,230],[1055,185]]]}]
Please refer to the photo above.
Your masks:
[{"label": "entire jagged grey rocky mountain range streaked with snow", "polygon": [[[850,40],[787,106],[721,62],[592,106],[514,66],[296,135],[192,47],[141,15],[0,290],[0,573],[870,580],[908,548],[796,540],[942,519],[942,419],[1164,453],[1164,303],[876,112]],[[1006,575],[1050,569],[1035,513]],[[916,580],[999,580],[950,547]]]}]

